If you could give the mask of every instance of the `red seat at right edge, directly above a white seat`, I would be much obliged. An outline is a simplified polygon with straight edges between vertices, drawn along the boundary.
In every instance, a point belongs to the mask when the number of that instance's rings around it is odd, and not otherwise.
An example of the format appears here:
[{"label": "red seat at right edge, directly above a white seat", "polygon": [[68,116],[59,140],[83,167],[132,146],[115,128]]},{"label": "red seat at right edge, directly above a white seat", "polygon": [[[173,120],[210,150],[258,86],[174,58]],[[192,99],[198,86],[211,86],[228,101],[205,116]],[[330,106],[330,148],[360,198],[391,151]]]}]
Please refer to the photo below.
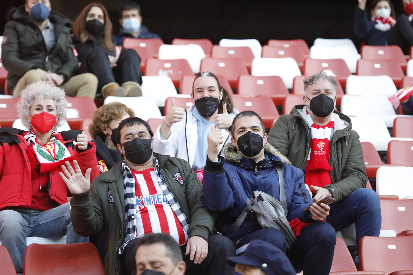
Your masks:
[{"label": "red seat at right edge, directly above a white seat", "polygon": [[387,162],[394,165],[413,166],[413,141],[390,141],[387,149]]}]

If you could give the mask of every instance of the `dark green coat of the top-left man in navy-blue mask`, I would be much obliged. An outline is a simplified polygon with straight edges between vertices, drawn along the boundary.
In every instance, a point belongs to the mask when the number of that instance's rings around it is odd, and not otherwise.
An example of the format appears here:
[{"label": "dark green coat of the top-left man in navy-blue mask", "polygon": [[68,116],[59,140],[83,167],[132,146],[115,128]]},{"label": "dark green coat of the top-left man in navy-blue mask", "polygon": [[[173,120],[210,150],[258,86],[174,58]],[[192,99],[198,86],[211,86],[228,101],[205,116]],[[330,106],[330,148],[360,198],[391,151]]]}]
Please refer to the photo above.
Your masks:
[{"label": "dark green coat of the top-left man in navy-blue mask", "polygon": [[[70,36],[71,22],[57,12],[50,12],[49,20],[55,24],[56,45],[47,52],[42,32],[30,19],[24,7],[17,9],[4,28],[2,63],[9,72],[7,82],[14,90],[19,79],[31,69],[41,68],[71,78],[78,68]],[[47,61],[48,60],[48,61]]]}]

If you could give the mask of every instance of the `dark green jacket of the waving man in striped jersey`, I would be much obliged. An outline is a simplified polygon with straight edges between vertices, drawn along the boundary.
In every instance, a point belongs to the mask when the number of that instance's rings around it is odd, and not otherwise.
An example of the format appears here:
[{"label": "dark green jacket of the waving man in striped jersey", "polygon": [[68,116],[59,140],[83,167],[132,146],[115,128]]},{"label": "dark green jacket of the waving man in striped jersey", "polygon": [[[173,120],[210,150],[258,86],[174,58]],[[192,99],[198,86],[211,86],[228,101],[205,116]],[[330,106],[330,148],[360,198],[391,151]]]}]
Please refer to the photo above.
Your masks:
[{"label": "dark green jacket of the waving man in striped jersey", "polygon": [[[166,185],[171,189],[183,212],[190,221],[191,236],[207,240],[214,228],[214,216],[204,204],[202,185],[197,174],[185,160],[154,153],[159,170]],[[173,178],[180,172],[183,184]],[[108,201],[112,192],[114,202]],[[91,236],[106,229],[107,254],[105,272],[107,275],[123,274],[119,247],[125,238],[125,197],[123,192],[122,162],[93,180],[85,193],[71,199],[71,219],[74,231],[81,236]]]}]

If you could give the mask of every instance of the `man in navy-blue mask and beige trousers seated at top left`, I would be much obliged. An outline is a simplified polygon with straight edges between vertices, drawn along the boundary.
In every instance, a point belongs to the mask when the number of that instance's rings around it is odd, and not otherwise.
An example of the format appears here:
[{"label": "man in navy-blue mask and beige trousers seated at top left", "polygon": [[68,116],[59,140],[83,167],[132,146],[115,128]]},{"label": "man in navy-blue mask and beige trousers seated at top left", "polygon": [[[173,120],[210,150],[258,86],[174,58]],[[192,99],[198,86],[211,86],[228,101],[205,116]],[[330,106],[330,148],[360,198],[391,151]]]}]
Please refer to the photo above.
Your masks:
[{"label": "man in navy-blue mask and beige trousers seated at top left", "polygon": [[13,97],[40,80],[61,86],[67,96],[95,99],[97,79],[91,73],[75,75],[71,22],[51,11],[50,0],[26,0],[7,22],[2,41],[2,63]]}]

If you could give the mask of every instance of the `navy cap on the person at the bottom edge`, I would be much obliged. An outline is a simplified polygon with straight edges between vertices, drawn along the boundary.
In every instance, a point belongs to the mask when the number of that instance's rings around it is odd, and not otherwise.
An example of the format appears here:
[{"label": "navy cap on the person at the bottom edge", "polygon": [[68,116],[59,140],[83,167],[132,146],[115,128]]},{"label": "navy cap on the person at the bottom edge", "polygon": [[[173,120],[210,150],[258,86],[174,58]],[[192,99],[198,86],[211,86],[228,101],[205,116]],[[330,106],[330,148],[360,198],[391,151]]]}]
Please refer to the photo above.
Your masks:
[{"label": "navy cap on the person at the bottom edge", "polygon": [[255,266],[267,275],[296,274],[287,256],[277,247],[262,240],[252,240],[242,255],[230,257],[227,262],[231,266],[235,266],[237,263],[244,266]]}]

